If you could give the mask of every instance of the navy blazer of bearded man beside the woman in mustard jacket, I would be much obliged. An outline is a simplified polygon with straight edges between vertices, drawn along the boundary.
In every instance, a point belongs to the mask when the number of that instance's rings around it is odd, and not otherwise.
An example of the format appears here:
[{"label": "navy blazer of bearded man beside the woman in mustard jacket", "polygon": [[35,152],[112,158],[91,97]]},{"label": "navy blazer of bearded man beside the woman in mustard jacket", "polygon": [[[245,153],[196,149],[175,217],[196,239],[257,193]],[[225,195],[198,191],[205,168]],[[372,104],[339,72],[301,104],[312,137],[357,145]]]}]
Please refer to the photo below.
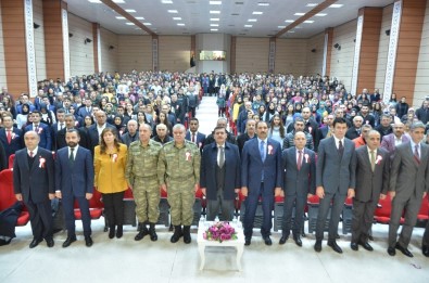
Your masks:
[{"label": "navy blazer of bearded man beside the woman in mustard jacket", "polygon": [[74,164],[68,160],[68,146],[56,152],[55,190],[66,196],[85,196],[93,191],[93,163],[89,150],[79,146]]}]

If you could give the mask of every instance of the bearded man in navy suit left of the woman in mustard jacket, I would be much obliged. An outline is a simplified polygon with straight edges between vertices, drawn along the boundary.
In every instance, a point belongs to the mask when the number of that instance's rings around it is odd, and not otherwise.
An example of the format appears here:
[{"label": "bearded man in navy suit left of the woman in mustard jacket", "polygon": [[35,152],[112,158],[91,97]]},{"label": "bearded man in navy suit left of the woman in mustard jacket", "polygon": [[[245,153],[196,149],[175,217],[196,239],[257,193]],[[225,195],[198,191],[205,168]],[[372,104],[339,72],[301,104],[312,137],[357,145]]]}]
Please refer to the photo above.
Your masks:
[{"label": "bearded man in navy suit left of the woman in mustard jacket", "polygon": [[93,165],[91,153],[78,145],[79,138],[76,129],[67,130],[65,140],[68,146],[59,150],[55,158],[55,195],[62,200],[67,228],[67,239],[63,247],[76,241],[75,200],[80,208],[85,243],[88,247],[92,245],[88,201],[91,200],[93,191]]}]

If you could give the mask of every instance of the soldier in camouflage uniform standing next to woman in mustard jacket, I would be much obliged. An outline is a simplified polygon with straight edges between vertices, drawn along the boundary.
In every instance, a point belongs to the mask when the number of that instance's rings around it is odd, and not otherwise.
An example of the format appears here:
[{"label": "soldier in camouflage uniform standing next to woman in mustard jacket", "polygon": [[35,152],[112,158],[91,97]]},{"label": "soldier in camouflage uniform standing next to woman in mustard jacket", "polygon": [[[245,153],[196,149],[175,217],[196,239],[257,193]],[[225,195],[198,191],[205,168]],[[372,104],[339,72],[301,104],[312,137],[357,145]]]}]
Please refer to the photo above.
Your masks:
[{"label": "soldier in camouflage uniform standing next to woman in mustard jacket", "polygon": [[[125,178],[131,188],[136,201],[136,214],[139,220],[139,233],[135,236],[140,241],[150,235],[156,241],[155,223],[160,217],[160,184],[157,160],[162,144],[150,139],[152,127],[140,125],[139,141],[129,145]],[[149,230],[146,222],[149,220]]]}]

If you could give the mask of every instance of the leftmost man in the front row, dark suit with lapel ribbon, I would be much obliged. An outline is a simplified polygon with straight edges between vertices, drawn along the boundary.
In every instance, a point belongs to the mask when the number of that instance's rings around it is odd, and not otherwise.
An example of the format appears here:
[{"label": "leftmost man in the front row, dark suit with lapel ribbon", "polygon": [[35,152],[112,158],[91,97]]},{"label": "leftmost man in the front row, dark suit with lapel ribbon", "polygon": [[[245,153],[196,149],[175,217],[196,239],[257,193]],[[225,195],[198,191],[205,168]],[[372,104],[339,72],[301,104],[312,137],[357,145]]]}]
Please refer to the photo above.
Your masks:
[{"label": "leftmost man in the front row, dark suit with lapel ribbon", "polygon": [[38,146],[40,137],[29,130],[24,134],[26,149],[15,154],[13,189],[17,201],[24,201],[29,211],[33,230],[30,248],[43,239],[53,246],[51,201],[54,194],[52,153]]}]

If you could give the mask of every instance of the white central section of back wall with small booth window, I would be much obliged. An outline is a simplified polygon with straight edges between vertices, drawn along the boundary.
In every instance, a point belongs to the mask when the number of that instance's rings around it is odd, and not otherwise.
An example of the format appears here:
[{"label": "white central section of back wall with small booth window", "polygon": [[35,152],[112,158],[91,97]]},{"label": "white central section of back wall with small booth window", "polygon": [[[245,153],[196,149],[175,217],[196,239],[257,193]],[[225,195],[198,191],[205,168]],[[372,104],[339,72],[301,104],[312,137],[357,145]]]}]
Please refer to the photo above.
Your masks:
[{"label": "white central section of back wall with small booth window", "polygon": [[[231,36],[226,34],[198,34],[195,36],[195,67],[198,73],[229,73]],[[226,61],[200,61],[200,51],[226,51]],[[236,51],[237,53],[237,51]],[[188,60],[189,66],[189,60]]]}]

